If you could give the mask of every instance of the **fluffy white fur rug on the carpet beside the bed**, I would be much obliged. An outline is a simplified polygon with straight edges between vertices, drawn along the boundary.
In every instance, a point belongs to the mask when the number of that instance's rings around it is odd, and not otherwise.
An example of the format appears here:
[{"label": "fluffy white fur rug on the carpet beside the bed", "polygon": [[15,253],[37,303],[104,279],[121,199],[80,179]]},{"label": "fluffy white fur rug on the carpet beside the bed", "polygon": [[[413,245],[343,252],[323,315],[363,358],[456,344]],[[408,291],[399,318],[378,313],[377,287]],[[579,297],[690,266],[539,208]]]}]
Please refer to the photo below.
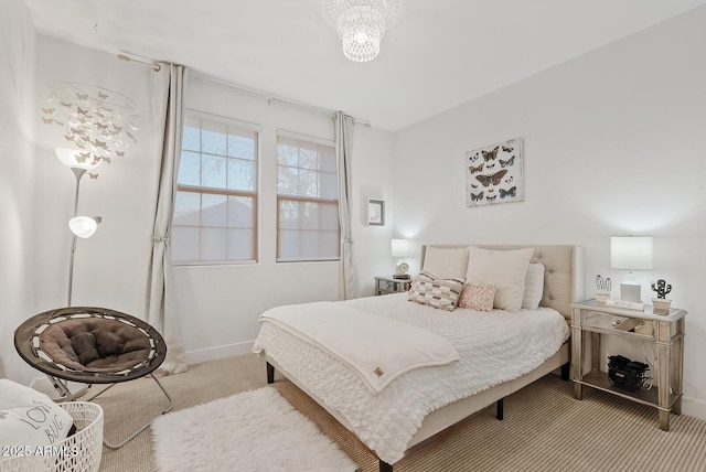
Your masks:
[{"label": "fluffy white fur rug on the carpet beside the bed", "polygon": [[271,387],[152,421],[160,471],[355,471],[356,464]]}]

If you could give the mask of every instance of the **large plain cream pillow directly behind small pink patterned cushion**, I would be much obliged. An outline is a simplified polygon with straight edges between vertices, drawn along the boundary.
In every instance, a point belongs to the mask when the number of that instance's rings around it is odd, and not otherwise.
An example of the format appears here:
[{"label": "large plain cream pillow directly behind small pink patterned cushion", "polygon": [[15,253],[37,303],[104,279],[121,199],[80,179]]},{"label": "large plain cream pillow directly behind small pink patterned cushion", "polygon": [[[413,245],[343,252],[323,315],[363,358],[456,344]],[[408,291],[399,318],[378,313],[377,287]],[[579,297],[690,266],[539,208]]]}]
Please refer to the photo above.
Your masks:
[{"label": "large plain cream pillow directly behind small pink patterned cushion", "polygon": [[533,248],[515,250],[491,250],[471,246],[468,259],[467,282],[494,283],[493,307],[517,311],[525,294],[527,266]]}]

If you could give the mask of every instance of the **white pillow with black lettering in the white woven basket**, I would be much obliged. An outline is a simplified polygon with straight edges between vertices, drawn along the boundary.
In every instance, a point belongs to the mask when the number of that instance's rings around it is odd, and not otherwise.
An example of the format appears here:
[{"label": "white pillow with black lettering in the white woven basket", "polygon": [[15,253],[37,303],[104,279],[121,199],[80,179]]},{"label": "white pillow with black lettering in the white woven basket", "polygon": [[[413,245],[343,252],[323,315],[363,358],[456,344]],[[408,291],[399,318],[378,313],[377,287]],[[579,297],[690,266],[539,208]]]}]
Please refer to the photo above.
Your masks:
[{"label": "white pillow with black lettering in the white woven basket", "polygon": [[0,378],[0,444],[38,447],[66,439],[74,420],[49,396]]}]

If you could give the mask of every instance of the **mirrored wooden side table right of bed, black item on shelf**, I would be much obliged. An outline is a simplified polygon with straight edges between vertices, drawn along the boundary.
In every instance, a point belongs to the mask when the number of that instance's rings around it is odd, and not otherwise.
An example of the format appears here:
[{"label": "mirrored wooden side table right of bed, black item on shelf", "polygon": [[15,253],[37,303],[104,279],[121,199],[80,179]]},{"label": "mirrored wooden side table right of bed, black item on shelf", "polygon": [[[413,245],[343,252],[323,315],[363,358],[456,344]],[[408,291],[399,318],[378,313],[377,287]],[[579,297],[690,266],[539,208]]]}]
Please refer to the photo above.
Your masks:
[{"label": "mirrored wooden side table right of bed, black item on shelf", "polygon": [[[596,300],[571,304],[571,373],[574,395],[581,399],[588,386],[618,395],[657,409],[660,428],[670,430],[670,412],[682,414],[684,369],[684,317],[686,311],[671,309],[654,314],[653,307],[644,311],[607,307]],[[627,323],[627,324],[623,324]],[[623,325],[621,329],[621,324]],[[625,328],[633,326],[629,330]],[[650,390],[629,391],[610,384],[608,374],[600,372],[601,335],[621,336],[631,341],[651,342],[656,347],[657,383]],[[590,372],[584,374],[584,350],[591,344]]]}]

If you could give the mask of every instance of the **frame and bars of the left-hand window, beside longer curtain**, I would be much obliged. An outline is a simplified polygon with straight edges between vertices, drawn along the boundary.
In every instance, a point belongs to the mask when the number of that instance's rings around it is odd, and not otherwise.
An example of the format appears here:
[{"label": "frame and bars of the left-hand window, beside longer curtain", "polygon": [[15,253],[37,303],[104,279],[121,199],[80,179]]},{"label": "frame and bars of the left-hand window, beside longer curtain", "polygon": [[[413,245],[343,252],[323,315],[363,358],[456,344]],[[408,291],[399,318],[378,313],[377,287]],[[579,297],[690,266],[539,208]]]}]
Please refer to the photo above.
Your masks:
[{"label": "frame and bars of the left-hand window, beside longer curtain", "polygon": [[[194,267],[194,266],[237,266],[237,265],[254,265],[254,264],[258,264],[259,262],[259,248],[260,248],[260,242],[259,242],[259,224],[260,224],[260,216],[259,216],[259,197],[260,197],[260,174],[261,174],[261,141],[263,141],[263,131],[261,131],[261,127],[259,125],[253,124],[253,122],[248,122],[248,121],[243,121],[243,120],[238,120],[235,118],[231,118],[231,117],[226,117],[226,116],[222,116],[222,115],[215,115],[215,114],[210,114],[210,112],[205,112],[205,111],[201,111],[201,110],[196,110],[196,109],[192,109],[192,108],[185,108],[184,109],[184,127],[186,126],[186,120],[189,118],[195,118],[199,120],[206,120],[206,121],[211,121],[211,122],[215,122],[215,124],[220,124],[220,125],[225,125],[226,127],[234,127],[234,128],[239,128],[242,130],[245,131],[252,131],[255,133],[255,178],[254,178],[254,186],[255,186],[255,191],[243,191],[243,190],[227,190],[227,189],[218,189],[218,187],[211,187],[211,186],[201,186],[201,185],[186,185],[186,184],[180,184],[179,183],[179,175],[178,175],[178,181],[175,184],[175,192],[188,192],[188,193],[195,193],[199,194],[203,197],[203,195],[225,195],[225,196],[235,196],[235,197],[246,197],[246,199],[252,199],[253,200],[253,247],[252,247],[252,251],[250,251],[250,259],[225,259],[225,260],[207,260],[207,259],[195,259],[195,260],[174,260],[172,259],[172,265],[174,267]],[[227,128],[226,128],[227,129]],[[203,127],[200,128],[201,132],[203,132]],[[182,129],[183,131],[183,129]],[[226,142],[227,142],[227,135],[226,135]],[[182,138],[182,143],[181,143],[181,148],[180,148],[180,152],[196,152],[190,149],[184,149],[184,142],[183,142],[183,138]],[[218,155],[218,154],[213,154],[210,152],[203,152],[202,149],[200,149],[199,154],[201,157],[205,155]],[[226,150],[226,158],[228,158],[227,155],[227,150]],[[235,158],[237,159],[237,158]],[[181,154],[180,154],[180,165],[181,165]],[[200,165],[202,165],[202,163],[200,163]],[[176,172],[179,172],[179,169],[176,170]],[[193,225],[192,227],[197,227],[200,229],[203,229],[204,226],[203,225],[203,214],[202,212],[200,212],[199,215],[199,225]],[[173,217],[172,217],[172,229],[174,227],[173,224]],[[227,227],[226,227],[227,230]],[[199,233],[199,255],[200,257],[202,257],[203,254],[203,230],[200,230]]]}]

